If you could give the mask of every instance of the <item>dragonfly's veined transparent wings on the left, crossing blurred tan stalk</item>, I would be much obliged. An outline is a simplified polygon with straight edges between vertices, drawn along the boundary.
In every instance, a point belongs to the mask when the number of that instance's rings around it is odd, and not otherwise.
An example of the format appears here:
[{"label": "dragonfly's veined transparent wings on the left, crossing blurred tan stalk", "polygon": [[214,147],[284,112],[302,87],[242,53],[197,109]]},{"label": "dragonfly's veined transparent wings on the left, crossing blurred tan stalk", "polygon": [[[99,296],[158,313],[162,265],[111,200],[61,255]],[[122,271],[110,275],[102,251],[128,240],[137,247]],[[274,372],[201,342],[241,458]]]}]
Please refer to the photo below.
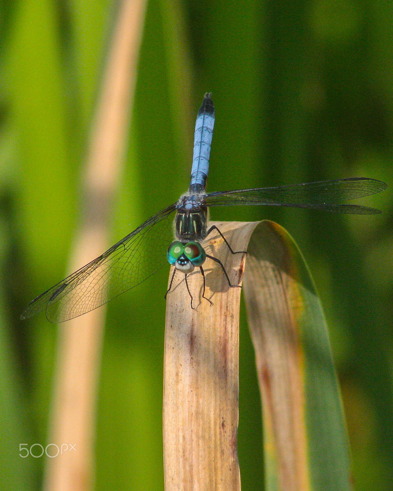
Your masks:
[{"label": "dragonfly's veined transparent wings on the left, crossing blurred tan stalk", "polygon": [[63,322],[103,305],[139,285],[168,264],[172,241],[168,206],[83,268],[32,300],[21,315],[28,319],[46,309],[51,322]]}]

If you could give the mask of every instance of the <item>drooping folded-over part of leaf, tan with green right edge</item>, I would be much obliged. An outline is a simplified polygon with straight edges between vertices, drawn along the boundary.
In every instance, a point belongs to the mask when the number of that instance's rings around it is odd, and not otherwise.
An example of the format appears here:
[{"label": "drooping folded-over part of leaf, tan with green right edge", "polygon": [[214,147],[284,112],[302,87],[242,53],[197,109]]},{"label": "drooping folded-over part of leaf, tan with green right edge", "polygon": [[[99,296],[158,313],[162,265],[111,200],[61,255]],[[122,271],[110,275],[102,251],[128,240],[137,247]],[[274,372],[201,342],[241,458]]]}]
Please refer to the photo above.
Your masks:
[{"label": "drooping folded-over part of leaf, tan with green right edge", "polygon": [[244,290],[262,395],[266,489],[351,489],[348,443],[328,331],[304,258],[264,220]]}]

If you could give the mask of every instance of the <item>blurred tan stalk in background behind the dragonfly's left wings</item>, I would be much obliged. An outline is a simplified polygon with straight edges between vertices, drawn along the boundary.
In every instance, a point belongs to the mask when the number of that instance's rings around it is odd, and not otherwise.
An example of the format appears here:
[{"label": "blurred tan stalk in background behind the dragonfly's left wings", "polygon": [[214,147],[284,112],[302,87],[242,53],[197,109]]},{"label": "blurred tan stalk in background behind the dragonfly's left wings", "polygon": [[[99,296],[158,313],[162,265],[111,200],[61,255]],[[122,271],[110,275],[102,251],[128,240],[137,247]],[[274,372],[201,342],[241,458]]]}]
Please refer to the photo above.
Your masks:
[{"label": "blurred tan stalk in background behind the dragonfly's left wings", "polygon": [[[119,5],[84,171],[84,210],[70,270],[108,248],[108,217],[125,150],[146,2]],[[68,450],[47,460],[46,491],[85,491],[94,484],[93,445],[105,309],[59,327],[49,442]],[[70,449],[75,445],[75,450]]]}]

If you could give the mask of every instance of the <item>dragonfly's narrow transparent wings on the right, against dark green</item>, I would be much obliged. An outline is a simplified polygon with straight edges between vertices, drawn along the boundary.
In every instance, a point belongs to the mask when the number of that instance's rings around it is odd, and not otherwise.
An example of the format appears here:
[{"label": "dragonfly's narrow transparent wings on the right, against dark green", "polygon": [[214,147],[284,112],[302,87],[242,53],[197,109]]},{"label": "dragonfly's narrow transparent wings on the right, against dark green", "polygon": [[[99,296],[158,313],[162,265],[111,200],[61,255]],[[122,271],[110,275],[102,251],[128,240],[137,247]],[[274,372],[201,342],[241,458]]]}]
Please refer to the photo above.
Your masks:
[{"label": "dragonfly's narrow transparent wings on the right, against dark green", "polygon": [[381,212],[374,208],[341,204],[341,202],[375,194],[386,188],[387,185],[382,181],[366,177],[354,177],[292,186],[278,186],[277,188],[211,192],[206,195],[203,203],[207,206],[290,206],[354,215],[373,215]]}]

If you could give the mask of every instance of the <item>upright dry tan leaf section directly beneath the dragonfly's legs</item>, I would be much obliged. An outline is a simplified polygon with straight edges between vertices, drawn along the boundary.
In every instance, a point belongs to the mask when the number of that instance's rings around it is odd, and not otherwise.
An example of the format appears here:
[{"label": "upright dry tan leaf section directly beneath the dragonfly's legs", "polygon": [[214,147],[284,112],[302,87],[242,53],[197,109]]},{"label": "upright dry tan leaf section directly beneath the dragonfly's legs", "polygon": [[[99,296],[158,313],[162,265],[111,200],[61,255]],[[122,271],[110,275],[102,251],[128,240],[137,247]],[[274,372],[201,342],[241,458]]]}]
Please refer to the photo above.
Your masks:
[{"label": "upright dry tan leaf section directly beneath the dragonfly's legs", "polygon": [[[217,223],[233,250],[245,250],[255,223]],[[231,254],[217,234],[203,245],[219,257],[232,284],[241,282],[245,255]],[[220,266],[206,260],[189,276],[190,296],[179,275],[167,297],[164,358],[164,469],[166,491],[240,490],[237,460],[239,303]],[[195,305],[194,305],[195,302]]]}]

